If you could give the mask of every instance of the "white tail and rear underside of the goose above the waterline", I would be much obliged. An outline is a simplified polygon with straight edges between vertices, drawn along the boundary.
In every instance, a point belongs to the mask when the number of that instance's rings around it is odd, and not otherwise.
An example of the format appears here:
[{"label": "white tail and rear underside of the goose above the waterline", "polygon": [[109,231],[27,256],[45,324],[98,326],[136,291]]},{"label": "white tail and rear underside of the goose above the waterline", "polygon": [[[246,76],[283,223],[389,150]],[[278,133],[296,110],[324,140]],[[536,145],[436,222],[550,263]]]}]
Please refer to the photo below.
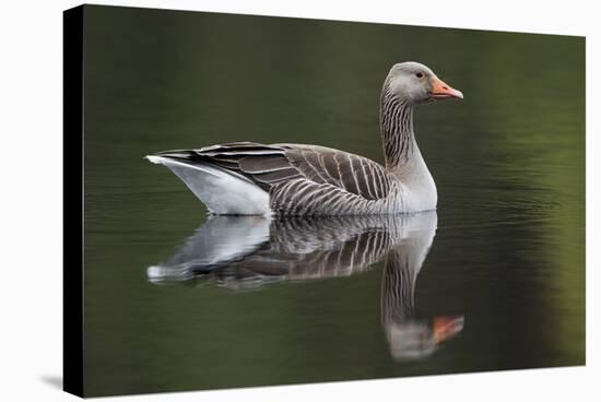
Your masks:
[{"label": "white tail and rear underside of the goose above the waterline", "polygon": [[211,213],[264,215],[271,212],[268,192],[241,175],[211,165],[191,165],[165,156],[149,155],[146,159],[167,166]]}]

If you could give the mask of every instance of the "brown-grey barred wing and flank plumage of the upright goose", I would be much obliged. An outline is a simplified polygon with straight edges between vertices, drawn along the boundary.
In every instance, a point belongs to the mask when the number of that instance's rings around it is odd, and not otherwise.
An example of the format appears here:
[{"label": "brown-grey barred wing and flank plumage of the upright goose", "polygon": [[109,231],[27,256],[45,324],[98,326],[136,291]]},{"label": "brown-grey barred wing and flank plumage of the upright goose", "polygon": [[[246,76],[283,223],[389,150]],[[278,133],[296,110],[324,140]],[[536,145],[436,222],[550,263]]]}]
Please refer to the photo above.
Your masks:
[{"label": "brown-grey barred wing and flank plumage of the upright goose", "polygon": [[156,155],[240,175],[268,191],[282,215],[387,213],[400,191],[384,166],[322,146],[235,142]]}]

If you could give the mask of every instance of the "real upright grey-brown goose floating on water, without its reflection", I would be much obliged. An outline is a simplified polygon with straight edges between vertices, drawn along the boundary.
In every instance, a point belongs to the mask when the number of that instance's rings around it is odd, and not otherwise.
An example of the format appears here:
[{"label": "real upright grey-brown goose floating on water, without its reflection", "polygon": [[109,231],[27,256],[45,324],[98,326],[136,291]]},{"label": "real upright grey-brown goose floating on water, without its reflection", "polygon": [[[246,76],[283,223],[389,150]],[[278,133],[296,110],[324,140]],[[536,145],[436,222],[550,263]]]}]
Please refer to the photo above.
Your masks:
[{"label": "real upright grey-brown goose floating on water, without its reflection", "polygon": [[413,109],[463,98],[424,64],[392,66],[381,90],[385,165],[331,147],[231,142],[163,151],[168,167],[219,215],[367,215],[436,209],[434,179],[413,132]]}]

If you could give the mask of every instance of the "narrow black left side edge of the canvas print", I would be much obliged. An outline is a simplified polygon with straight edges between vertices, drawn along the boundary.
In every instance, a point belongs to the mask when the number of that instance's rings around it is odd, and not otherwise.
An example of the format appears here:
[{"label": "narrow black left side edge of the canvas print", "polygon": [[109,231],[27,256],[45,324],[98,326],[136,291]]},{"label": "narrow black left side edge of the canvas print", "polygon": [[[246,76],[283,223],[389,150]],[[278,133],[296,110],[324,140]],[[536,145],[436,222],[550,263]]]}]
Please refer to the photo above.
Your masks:
[{"label": "narrow black left side edge of the canvas print", "polygon": [[83,397],[83,5],[63,12],[63,390]]}]

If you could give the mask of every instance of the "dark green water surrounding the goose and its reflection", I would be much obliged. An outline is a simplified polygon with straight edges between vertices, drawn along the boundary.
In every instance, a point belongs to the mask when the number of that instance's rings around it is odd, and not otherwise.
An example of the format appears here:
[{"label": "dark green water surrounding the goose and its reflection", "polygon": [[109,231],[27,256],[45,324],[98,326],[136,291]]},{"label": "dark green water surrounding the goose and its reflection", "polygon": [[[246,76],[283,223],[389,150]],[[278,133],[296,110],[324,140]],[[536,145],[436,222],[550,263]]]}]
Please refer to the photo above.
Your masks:
[{"label": "dark green water surrounding the goose and its reflection", "polygon": [[[86,395],[585,363],[584,38],[84,14]],[[412,312],[431,327],[462,317],[462,329],[417,357],[392,353],[384,260],[251,288],[149,281],[148,268],[177,255],[207,215],[144,155],[249,140],[381,162],[379,91],[405,60],[466,95],[416,111],[439,202]]]}]

